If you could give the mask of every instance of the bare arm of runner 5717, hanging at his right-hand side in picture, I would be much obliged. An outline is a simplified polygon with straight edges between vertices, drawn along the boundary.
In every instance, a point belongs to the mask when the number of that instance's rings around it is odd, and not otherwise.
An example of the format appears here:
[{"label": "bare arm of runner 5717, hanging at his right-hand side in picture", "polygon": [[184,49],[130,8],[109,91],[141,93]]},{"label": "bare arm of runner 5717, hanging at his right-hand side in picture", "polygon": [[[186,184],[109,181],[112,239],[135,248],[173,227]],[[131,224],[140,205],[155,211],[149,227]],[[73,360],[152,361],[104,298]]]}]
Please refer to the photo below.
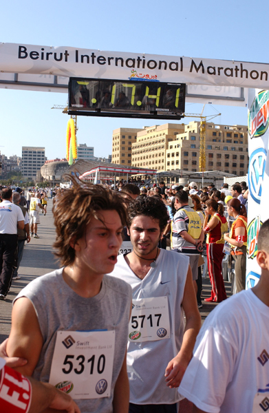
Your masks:
[{"label": "bare arm of runner 5717, hanging at his right-hand side in picture", "polygon": [[170,388],[177,388],[180,385],[184,372],[191,361],[195,340],[201,327],[201,317],[197,308],[197,300],[190,266],[186,277],[182,307],[186,315],[186,326],[182,346],[174,359],[169,361],[164,374],[167,382],[166,385]]}]

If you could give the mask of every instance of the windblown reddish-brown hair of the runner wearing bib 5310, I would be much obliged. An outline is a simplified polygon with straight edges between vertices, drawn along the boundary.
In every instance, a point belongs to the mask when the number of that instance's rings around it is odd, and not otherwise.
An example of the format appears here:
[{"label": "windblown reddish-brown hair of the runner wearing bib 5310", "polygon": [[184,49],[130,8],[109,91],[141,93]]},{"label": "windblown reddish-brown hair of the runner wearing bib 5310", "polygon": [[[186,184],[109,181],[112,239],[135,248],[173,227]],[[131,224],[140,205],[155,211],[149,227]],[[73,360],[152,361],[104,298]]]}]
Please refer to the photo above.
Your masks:
[{"label": "windblown reddish-brown hair of the runner wearing bib 5310", "polygon": [[117,211],[122,225],[127,220],[129,200],[120,192],[111,191],[103,185],[94,185],[68,176],[73,186],[57,193],[54,206],[54,225],[56,226],[56,257],[63,266],[73,264],[76,253],[70,242],[76,242],[85,235],[87,224],[92,218],[100,219],[100,211]]}]

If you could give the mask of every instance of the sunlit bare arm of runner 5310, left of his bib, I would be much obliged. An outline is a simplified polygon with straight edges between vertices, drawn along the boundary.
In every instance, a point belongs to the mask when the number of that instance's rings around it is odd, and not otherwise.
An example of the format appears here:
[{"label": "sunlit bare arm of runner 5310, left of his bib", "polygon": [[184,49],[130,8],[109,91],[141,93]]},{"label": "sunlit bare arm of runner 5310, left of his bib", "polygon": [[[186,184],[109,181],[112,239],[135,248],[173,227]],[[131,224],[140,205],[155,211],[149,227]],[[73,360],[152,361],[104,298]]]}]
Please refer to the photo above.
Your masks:
[{"label": "sunlit bare arm of runner 5310, left of his bib", "polygon": [[39,328],[34,306],[30,299],[21,297],[15,301],[12,309],[12,324],[8,339],[7,353],[9,357],[23,357],[28,363],[15,370],[32,376],[39,361],[43,346],[43,337]]}]

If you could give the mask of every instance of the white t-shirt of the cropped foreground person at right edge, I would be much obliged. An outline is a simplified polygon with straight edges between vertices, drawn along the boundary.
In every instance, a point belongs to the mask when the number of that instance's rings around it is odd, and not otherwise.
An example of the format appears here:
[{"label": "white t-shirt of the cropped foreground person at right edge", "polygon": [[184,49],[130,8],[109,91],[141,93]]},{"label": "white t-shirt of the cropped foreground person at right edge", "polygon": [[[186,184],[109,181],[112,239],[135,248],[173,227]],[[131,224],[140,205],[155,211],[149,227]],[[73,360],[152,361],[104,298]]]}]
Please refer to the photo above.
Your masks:
[{"label": "white t-shirt of the cropped foreground person at right edge", "polygon": [[[269,308],[242,291],[208,315],[178,392],[209,413],[257,413],[269,391]],[[267,393],[268,394],[268,393]]]}]

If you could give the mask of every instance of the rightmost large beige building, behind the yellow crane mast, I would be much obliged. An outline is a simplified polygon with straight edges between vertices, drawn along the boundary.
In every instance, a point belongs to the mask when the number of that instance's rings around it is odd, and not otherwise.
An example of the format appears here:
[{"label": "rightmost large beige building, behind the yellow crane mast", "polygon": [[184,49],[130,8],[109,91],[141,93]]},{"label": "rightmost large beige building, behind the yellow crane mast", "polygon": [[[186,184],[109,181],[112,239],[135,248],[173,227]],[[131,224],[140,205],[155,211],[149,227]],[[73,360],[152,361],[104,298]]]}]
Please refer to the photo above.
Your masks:
[{"label": "rightmost large beige building, behind the yellow crane mast", "polygon": [[[200,122],[184,126],[166,151],[166,171],[199,171]],[[206,123],[206,171],[248,173],[248,128]]]}]

